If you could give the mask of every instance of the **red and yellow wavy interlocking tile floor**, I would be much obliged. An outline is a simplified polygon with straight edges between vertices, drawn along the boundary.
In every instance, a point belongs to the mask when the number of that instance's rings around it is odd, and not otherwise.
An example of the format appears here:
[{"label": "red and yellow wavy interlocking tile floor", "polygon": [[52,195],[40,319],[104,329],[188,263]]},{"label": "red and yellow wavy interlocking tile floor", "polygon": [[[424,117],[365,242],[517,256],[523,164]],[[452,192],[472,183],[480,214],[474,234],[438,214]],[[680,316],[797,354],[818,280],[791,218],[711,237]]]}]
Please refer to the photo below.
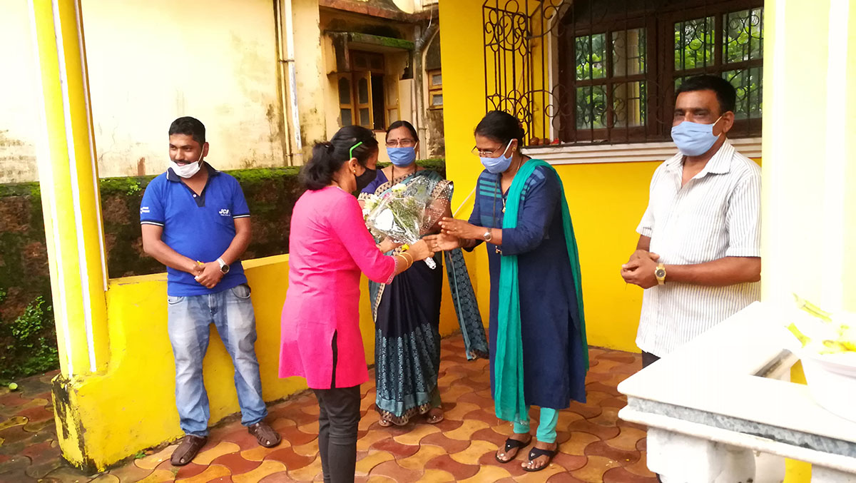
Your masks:
[{"label": "red and yellow wavy interlocking tile floor", "polygon": [[[363,385],[363,417],[357,443],[360,482],[655,482],[645,467],[645,428],[618,419],[626,403],[615,386],[641,367],[639,355],[591,348],[586,381],[588,402],[574,403],[559,415],[559,455],[549,468],[526,473],[520,468],[527,450],[515,462],[494,460],[498,445],[511,432],[496,419],[490,399],[488,366],[467,361],[461,336],[443,341],[440,391],[445,420],[431,426],[421,421],[403,427],[377,424],[373,379]],[[290,482],[320,481],[318,406],[304,393],[270,408],[269,421],[282,434],[282,444],[259,446],[239,422],[211,430],[207,446],[182,468],[169,464],[175,445],[86,475],[62,462],[56,445],[50,381],[55,373],[22,381],[19,391],[0,391],[0,481],[119,483],[126,481]],[[533,411],[537,413],[537,411]],[[233,418],[234,419],[234,418]]]}]

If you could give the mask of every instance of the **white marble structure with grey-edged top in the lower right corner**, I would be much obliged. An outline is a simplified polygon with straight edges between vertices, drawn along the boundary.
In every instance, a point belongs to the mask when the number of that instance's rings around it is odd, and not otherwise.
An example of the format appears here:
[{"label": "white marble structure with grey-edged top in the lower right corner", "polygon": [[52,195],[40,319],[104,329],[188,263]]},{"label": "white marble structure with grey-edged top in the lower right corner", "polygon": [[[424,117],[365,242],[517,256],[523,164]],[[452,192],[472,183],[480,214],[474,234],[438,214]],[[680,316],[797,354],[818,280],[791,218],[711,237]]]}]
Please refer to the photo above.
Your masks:
[{"label": "white marble structure with grey-edged top in the lower right corner", "polygon": [[667,483],[767,483],[788,457],[811,462],[812,483],[856,483],[856,423],[787,380],[790,338],[756,302],[623,381],[619,416],[648,426],[648,468]]}]

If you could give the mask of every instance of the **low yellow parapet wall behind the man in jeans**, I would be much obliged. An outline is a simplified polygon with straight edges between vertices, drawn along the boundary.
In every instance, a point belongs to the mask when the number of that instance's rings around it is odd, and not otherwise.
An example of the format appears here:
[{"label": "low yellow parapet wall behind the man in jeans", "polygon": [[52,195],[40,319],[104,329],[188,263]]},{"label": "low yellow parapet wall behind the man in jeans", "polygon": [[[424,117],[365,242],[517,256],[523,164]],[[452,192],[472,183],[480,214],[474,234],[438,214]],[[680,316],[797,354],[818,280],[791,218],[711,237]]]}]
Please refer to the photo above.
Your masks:
[{"label": "low yellow parapet wall behind the man in jeans", "polygon": [[[265,401],[276,401],[306,389],[304,379],[279,379],[280,313],[288,289],[288,255],[244,262],[253,289],[256,355]],[[366,361],[374,362],[374,325],[364,278],[360,330]],[[457,330],[448,284],[444,286],[441,333]],[[175,363],[167,335],[166,274],[110,280],[107,293],[110,361],[104,373],[72,382],[80,410],[86,454],[104,468],[139,450],[179,438],[175,410]],[[211,329],[205,356],[205,388],[211,403],[211,425],[240,411],[229,355]],[[121,436],[120,436],[121,435]],[[75,455],[65,454],[74,459]],[[80,454],[76,455],[80,457]]]}]

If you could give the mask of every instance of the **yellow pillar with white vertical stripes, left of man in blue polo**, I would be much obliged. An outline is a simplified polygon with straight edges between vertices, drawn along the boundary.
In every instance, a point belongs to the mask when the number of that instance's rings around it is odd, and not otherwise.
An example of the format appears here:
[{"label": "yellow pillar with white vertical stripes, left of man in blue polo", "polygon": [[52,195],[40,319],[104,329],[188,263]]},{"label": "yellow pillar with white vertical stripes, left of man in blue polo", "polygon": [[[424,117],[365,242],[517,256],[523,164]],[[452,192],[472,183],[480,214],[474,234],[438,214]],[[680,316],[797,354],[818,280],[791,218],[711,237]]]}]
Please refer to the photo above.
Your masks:
[{"label": "yellow pillar with white vertical stripes, left of man in blue polo", "polygon": [[41,86],[39,183],[61,374],[54,379],[63,456],[86,467],[75,386],[104,370],[107,283],[86,50],[77,0],[31,0]]}]

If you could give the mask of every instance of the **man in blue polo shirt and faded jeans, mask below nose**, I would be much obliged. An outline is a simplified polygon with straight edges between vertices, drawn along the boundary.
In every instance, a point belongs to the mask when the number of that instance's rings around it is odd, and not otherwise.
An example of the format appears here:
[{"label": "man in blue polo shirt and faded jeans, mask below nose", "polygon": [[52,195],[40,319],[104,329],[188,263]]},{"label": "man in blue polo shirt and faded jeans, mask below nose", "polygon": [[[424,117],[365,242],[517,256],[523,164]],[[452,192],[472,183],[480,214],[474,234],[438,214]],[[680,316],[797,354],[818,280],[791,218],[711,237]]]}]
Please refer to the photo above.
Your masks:
[{"label": "man in blue polo shirt and faded jeans, mask below nose", "polygon": [[169,342],[175,355],[175,404],[185,432],[171,462],[182,466],[208,437],[202,360],[214,324],[235,365],[241,424],[259,444],[276,446],[268,426],[256,320],[241,254],[250,243],[250,211],[234,177],[204,161],[205,126],[179,117],[169,126],[169,169],[149,183],[140,206],[143,249],[167,266]]}]

